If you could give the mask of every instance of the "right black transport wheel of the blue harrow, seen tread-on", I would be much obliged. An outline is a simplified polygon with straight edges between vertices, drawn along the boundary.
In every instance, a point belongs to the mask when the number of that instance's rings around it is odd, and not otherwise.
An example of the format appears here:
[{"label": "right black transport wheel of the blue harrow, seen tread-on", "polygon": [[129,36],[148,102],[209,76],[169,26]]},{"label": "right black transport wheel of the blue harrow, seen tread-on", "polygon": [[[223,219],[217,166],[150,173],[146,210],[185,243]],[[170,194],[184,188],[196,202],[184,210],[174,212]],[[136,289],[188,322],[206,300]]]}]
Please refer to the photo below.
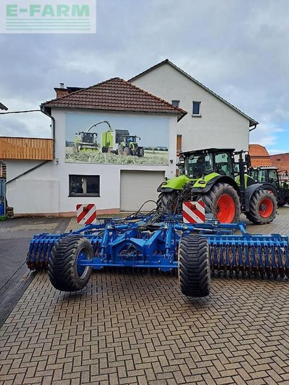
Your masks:
[{"label": "right black transport wheel of the blue harrow, seen tread-on", "polygon": [[205,297],[211,288],[210,247],[205,237],[182,238],[178,252],[181,292],[188,297]]}]

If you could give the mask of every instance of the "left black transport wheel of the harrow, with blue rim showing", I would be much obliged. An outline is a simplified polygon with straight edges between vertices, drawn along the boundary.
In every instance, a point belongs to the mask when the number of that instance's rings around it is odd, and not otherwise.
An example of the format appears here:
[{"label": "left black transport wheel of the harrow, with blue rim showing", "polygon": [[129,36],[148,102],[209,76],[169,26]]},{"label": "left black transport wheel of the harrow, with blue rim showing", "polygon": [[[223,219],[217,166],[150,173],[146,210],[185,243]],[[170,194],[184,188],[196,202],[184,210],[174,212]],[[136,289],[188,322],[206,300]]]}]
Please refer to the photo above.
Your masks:
[{"label": "left black transport wheel of the harrow, with blue rim showing", "polygon": [[60,291],[83,289],[91,277],[91,268],[77,266],[77,262],[91,258],[92,247],[86,238],[74,235],[60,238],[53,246],[48,261],[50,282]]}]

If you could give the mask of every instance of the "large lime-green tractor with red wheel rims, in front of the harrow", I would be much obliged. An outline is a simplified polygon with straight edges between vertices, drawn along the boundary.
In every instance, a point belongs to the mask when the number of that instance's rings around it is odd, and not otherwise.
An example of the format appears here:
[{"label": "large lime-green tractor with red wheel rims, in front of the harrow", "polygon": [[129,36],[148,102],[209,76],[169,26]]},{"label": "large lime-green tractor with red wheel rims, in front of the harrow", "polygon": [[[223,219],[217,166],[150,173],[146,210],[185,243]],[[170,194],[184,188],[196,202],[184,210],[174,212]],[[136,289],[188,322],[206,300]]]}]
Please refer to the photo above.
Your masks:
[{"label": "large lime-green tractor with red wheel rims, in front of the harrow", "polygon": [[240,212],[257,224],[275,218],[276,188],[247,177],[250,157],[244,151],[210,148],[182,152],[178,167],[180,175],[158,187],[160,211],[180,214],[183,202],[202,200],[206,213],[221,223],[239,222]]}]

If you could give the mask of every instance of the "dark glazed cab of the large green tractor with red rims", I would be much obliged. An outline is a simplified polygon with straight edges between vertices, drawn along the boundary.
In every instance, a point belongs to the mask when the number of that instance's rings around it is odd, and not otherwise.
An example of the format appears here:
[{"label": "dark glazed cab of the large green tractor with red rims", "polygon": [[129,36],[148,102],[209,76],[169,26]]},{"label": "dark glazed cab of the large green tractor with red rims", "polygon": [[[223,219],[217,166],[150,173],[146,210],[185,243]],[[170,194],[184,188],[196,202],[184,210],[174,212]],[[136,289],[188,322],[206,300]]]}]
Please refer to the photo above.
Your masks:
[{"label": "dark glazed cab of the large green tractor with red rims", "polygon": [[178,167],[180,175],[190,179],[217,173],[234,178],[234,149],[205,149],[182,152]]}]

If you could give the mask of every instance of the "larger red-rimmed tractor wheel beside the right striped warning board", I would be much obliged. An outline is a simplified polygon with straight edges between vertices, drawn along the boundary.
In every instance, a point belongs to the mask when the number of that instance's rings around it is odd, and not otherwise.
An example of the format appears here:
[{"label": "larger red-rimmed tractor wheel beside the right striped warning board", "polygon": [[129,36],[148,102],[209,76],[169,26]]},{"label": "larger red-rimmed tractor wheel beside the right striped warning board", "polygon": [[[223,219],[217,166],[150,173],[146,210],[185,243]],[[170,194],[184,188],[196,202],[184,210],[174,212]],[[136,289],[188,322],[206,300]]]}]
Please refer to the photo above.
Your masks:
[{"label": "larger red-rimmed tractor wheel beside the right striped warning board", "polygon": [[220,223],[240,221],[240,199],[237,191],[228,183],[216,183],[202,196],[206,213],[212,213]]}]

